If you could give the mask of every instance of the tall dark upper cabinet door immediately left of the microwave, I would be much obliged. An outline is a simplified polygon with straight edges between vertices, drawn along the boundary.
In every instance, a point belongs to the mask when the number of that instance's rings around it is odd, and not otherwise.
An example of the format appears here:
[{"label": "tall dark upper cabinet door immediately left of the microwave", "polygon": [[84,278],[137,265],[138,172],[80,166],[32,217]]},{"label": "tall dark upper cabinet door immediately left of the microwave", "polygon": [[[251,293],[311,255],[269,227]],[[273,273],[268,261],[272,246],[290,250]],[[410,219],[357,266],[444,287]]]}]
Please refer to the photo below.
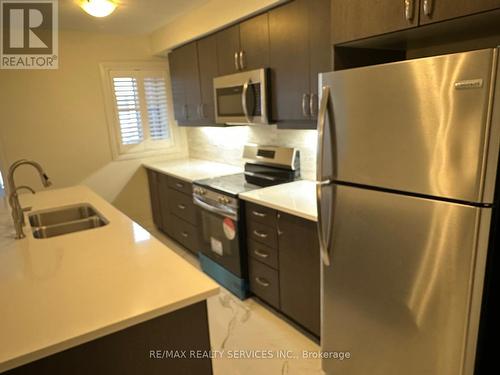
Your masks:
[{"label": "tall dark upper cabinet door immediately left of the microwave", "polygon": [[210,35],[198,42],[198,66],[200,68],[200,115],[203,121],[215,122],[214,78],[217,77],[217,39]]}]

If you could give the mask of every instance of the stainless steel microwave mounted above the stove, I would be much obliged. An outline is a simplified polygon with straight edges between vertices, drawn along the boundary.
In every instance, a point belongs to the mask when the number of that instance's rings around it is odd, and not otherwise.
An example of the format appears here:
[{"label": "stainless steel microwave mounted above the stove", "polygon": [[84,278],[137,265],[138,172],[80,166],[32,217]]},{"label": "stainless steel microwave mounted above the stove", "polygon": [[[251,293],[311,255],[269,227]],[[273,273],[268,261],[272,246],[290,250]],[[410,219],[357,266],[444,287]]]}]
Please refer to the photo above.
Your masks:
[{"label": "stainless steel microwave mounted above the stove", "polygon": [[269,124],[267,75],[267,69],[256,69],[214,78],[215,122]]}]

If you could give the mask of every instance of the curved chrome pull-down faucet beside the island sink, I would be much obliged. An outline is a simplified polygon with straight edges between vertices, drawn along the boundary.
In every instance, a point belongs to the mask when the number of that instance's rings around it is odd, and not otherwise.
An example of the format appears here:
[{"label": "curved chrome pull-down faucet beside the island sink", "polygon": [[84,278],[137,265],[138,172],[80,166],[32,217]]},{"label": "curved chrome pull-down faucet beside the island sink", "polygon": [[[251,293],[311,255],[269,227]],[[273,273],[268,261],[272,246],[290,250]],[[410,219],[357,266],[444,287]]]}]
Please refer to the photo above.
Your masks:
[{"label": "curved chrome pull-down faucet beside the island sink", "polygon": [[40,175],[40,179],[42,180],[43,186],[49,187],[50,185],[52,185],[49,177],[47,176],[47,174],[43,170],[42,166],[35,161],[22,159],[22,160],[18,160],[16,162],[14,162],[10,166],[9,174],[7,177],[7,182],[9,184],[9,204],[10,204],[10,207],[12,209],[12,220],[14,221],[14,228],[16,229],[16,239],[21,239],[21,238],[26,237],[26,235],[24,234],[24,231],[23,231],[23,227],[25,224],[24,223],[24,211],[26,211],[26,210],[21,207],[21,204],[19,203],[19,196],[18,196],[17,192],[21,189],[26,189],[26,190],[29,190],[31,193],[35,194],[35,191],[32,188],[30,188],[29,186],[25,186],[25,185],[16,186],[16,184],[14,182],[14,172],[21,165],[31,165],[32,167],[34,167],[38,171],[38,174]]}]

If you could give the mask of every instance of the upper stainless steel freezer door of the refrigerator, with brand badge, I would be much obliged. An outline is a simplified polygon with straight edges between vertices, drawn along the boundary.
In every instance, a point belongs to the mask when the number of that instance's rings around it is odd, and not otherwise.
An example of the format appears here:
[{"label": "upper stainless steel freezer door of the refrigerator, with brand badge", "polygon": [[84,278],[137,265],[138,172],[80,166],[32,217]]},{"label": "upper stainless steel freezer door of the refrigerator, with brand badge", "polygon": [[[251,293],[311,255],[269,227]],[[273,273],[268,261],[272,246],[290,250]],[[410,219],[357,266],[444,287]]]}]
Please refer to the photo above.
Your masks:
[{"label": "upper stainless steel freezer door of the refrigerator, with brand badge", "polygon": [[[335,178],[491,203],[500,121],[496,49],[322,74],[335,127]],[[498,102],[498,101],[497,101]],[[497,109],[498,110],[498,109]],[[491,155],[488,155],[490,153]]]}]

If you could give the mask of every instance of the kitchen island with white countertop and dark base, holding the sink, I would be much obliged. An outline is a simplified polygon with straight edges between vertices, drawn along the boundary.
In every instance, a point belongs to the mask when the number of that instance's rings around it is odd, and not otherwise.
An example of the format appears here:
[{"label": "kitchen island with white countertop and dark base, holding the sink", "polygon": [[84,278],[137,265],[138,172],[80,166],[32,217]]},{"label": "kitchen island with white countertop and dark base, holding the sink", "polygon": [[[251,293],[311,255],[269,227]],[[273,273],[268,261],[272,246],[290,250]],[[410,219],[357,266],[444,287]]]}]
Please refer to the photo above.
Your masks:
[{"label": "kitchen island with white countertop and dark base, holding the sink", "polygon": [[212,373],[210,358],[189,351],[210,349],[216,283],[86,187],[21,203],[31,213],[86,203],[108,224],[36,239],[27,220],[26,238],[11,240],[2,206],[0,372]]}]

